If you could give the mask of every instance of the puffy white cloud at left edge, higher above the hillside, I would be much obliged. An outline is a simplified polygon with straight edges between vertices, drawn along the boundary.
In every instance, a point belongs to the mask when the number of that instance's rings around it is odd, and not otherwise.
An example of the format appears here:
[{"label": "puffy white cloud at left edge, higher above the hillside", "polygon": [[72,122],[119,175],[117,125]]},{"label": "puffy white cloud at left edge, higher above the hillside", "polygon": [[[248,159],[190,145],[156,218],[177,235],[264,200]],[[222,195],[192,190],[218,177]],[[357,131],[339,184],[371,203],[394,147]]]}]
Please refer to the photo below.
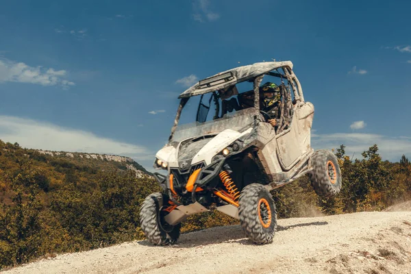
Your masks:
[{"label": "puffy white cloud at left edge, higher above the hillside", "polygon": [[0,60],[0,83],[20,82],[42,86],[60,85],[63,88],[74,86],[74,82],[62,78],[66,74],[67,72],[64,70],[55,71],[54,69],[46,69],[42,66],[28,66],[23,62],[14,62],[7,59]]}]

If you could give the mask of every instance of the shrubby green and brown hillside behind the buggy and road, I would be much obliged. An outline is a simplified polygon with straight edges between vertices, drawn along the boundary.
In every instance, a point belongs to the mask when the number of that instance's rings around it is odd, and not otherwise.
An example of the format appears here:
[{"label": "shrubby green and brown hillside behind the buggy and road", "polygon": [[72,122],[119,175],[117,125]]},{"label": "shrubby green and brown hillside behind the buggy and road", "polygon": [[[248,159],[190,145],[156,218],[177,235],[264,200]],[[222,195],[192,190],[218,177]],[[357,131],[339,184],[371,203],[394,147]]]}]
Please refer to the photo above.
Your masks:
[{"label": "shrubby green and brown hillside behind the buggy and road", "polygon": [[[307,177],[273,191],[279,218],[383,210],[411,199],[411,165],[382,161],[377,145],[351,160],[336,153],[343,190],[321,199]],[[160,190],[129,158],[22,149],[0,140],[0,269],[55,253],[144,238],[140,203]],[[236,220],[219,212],[190,216],[182,232]]]}]

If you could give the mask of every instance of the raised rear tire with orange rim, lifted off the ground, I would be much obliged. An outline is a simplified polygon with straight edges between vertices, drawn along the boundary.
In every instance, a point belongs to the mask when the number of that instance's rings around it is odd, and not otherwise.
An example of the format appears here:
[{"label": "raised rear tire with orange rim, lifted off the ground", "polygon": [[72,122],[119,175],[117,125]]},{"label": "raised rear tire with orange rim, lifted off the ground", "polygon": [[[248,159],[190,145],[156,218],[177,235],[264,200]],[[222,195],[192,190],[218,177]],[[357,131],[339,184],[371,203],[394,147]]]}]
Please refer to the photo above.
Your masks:
[{"label": "raised rear tire with orange rim, lifted off the ground", "polygon": [[342,178],[336,155],[329,150],[316,151],[311,158],[311,185],[317,195],[333,197],[341,190]]}]

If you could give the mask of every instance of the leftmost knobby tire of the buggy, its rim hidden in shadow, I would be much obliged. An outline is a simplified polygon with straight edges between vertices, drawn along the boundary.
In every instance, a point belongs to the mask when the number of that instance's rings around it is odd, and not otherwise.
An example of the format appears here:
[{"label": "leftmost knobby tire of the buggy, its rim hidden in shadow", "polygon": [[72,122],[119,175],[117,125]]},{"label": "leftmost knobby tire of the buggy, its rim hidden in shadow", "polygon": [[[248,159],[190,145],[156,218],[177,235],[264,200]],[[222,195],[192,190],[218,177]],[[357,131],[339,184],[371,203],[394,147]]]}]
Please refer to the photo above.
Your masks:
[{"label": "leftmost knobby tire of the buggy, its rim hidden in shadow", "polygon": [[140,226],[153,245],[173,245],[179,238],[181,223],[169,225],[164,221],[166,212],[160,212],[163,205],[168,205],[168,201],[167,195],[157,192],[147,196],[142,202]]}]

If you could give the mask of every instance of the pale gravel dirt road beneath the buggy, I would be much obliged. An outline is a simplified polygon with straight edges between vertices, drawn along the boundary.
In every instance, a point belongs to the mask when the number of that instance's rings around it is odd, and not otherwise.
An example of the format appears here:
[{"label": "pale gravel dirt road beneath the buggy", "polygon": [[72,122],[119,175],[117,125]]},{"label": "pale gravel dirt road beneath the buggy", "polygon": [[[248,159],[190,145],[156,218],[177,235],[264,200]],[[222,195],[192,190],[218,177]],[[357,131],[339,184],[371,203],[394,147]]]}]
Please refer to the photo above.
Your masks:
[{"label": "pale gravel dirt road beneath the buggy", "polygon": [[179,244],[146,241],[64,254],[6,273],[410,273],[411,212],[282,219],[271,245],[239,226],[184,234]]}]

